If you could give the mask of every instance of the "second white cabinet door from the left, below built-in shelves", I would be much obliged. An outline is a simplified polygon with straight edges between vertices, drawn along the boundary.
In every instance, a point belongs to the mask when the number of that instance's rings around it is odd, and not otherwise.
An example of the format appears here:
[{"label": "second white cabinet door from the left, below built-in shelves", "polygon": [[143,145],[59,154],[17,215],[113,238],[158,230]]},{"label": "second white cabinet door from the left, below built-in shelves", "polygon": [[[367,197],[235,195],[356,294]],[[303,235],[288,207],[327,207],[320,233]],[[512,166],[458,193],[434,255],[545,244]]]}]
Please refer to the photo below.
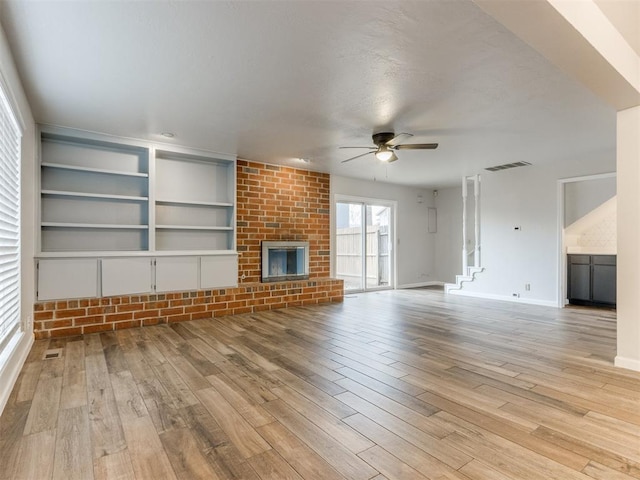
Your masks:
[{"label": "second white cabinet door from the left, below built-in shelves", "polygon": [[150,258],[102,259],[102,296],[152,291]]}]

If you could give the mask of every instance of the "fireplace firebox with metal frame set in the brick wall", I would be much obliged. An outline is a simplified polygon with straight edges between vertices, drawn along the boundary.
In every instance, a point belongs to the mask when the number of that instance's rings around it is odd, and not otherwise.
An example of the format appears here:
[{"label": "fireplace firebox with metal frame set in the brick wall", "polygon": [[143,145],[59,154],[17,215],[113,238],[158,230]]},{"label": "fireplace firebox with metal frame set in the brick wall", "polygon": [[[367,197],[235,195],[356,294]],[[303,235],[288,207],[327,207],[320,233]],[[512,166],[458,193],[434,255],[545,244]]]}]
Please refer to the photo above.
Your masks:
[{"label": "fireplace firebox with metal frame set in the brick wall", "polygon": [[262,281],[309,278],[309,242],[262,242]]}]

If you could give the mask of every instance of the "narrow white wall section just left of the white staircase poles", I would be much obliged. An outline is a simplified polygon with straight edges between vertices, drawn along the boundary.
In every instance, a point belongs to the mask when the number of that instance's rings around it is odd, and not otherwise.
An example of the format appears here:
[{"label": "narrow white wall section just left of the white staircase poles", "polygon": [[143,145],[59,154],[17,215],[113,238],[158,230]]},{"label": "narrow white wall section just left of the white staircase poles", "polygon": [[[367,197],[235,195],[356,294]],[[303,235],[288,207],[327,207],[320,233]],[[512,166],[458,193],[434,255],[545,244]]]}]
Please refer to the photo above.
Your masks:
[{"label": "narrow white wall section just left of the white staircase poles", "polygon": [[438,212],[435,280],[455,283],[456,275],[462,273],[462,187],[439,189],[435,206]]}]

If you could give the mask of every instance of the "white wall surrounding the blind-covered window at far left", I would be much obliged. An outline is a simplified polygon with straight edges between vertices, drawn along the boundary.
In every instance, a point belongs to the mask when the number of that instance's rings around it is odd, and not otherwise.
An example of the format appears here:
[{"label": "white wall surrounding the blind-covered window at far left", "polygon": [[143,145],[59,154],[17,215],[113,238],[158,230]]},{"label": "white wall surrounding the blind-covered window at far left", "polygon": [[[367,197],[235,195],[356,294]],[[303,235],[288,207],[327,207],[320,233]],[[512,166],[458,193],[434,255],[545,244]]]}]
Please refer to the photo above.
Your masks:
[{"label": "white wall surrounding the blind-covered window at far left", "polygon": [[0,77],[9,90],[13,107],[23,127],[21,182],[21,319],[26,332],[16,337],[10,348],[0,352],[0,413],[33,342],[33,303],[35,300],[34,252],[36,240],[36,133],[31,109],[20,84],[17,69],[4,31],[0,28]]}]

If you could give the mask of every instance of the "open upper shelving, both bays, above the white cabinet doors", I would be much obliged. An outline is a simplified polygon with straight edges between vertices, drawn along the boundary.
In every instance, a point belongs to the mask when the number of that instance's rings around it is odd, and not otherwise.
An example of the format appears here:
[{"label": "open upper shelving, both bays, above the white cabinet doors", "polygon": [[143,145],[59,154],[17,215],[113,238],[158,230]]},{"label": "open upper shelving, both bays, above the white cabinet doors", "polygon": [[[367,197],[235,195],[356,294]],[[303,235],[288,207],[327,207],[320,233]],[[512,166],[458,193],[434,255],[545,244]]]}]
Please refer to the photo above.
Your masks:
[{"label": "open upper shelving, both bays, above the white cabinet doors", "polygon": [[40,157],[42,256],[235,253],[235,158],[46,127]]}]

